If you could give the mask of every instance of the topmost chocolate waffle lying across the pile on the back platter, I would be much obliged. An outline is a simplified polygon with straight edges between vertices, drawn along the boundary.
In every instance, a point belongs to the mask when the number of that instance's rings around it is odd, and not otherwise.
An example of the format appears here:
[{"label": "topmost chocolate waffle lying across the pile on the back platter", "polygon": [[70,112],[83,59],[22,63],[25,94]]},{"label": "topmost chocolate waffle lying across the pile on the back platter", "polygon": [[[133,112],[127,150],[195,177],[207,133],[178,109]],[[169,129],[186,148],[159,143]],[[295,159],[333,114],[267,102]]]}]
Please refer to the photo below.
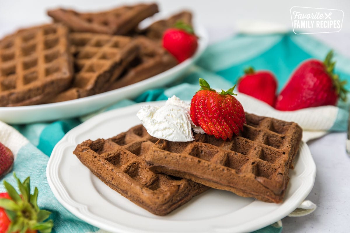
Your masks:
[{"label": "topmost chocolate waffle lying across the pile on the back platter", "polygon": [[123,6],[98,13],[78,13],[74,10],[49,10],[48,15],[72,31],[126,35],[139,22],[158,12],[156,4]]}]

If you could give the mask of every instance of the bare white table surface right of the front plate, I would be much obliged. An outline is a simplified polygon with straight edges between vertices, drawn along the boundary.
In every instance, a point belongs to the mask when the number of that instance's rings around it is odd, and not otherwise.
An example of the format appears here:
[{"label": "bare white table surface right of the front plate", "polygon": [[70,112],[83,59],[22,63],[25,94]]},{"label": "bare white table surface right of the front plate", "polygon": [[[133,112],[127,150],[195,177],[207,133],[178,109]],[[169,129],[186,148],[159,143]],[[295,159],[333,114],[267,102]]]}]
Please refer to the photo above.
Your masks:
[{"label": "bare white table surface right of the front plate", "polygon": [[317,209],[303,217],[282,219],[283,232],[349,232],[350,157],[346,133],[330,133],[308,143],[316,163],[316,180],[307,200]]}]

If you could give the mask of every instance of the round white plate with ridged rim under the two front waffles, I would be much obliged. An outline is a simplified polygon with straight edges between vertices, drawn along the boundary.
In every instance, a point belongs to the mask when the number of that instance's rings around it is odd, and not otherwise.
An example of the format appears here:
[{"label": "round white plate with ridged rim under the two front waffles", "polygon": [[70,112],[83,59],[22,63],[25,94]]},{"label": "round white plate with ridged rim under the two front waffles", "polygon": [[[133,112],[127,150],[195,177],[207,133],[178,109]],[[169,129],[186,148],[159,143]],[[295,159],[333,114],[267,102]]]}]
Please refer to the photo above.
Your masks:
[{"label": "round white plate with ridged rim under the two front waffles", "polygon": [[86,139],[109,138],[140,124],[135,104],[97,115],[69,131],[52,151],[47,179],[58,201],[87,223],[110,232],[250,232],[292,212],[311,191],[316,166],[306,143],[301,143],[290,170],[285,200],[265,203],[228,191],[208,190],[167,216],[155,216],[112,190],[73,155]]}]

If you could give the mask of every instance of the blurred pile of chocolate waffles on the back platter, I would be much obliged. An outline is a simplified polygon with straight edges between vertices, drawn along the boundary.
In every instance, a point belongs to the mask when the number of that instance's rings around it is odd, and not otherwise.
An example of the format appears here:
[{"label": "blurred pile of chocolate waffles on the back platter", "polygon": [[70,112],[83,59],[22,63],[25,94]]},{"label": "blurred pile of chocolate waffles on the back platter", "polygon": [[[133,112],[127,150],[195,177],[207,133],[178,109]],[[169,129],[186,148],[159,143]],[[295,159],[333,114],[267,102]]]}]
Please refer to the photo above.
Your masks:
[{"label": "blurred pile of chocolate waffles on the back platter", "polygon": [[78,99],[142,81],[177,64],[159,36],[189,12],[138,24],[158,6],[106,12],[49,10],[55,23],[21,29],[0,41],[0,107]]}]

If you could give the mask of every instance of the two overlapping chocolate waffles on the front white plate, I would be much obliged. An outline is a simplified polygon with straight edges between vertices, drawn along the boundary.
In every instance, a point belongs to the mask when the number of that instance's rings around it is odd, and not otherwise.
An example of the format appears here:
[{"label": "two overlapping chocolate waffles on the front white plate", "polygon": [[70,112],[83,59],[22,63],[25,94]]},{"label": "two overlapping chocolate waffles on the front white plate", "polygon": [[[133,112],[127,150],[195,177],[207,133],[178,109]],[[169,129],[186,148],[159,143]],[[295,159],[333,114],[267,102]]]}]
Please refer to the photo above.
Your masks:
[{"label": "two overlapping chocolate waffles on the front white plate", "polygon": [[302,130],[248,113],[246,120],[228,141],[196,133],[190,142],[158,140],[138,125],[107,140],[84,141],[73,153],[111,188],[158,215],[208,187],[280,203]]}]

